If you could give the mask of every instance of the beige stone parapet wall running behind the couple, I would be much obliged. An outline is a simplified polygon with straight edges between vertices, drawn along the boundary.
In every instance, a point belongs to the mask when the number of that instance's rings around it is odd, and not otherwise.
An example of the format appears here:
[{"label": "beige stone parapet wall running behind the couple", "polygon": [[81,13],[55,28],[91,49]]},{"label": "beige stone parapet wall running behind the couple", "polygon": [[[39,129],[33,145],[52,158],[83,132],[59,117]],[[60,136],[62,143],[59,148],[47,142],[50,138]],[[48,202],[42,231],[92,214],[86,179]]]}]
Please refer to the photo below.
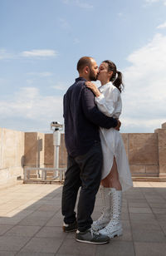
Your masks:
[{"label": "beige stone parapet wall running behind the couple", "polygon": [[[154,133],[123,133],[134,179],[166,178],[166,123]],[[53,135],[0,128],[0,185],[23,176],[23,167],[53,167]],[[61,134],[59,167],[67,165],[65,135]]]}]

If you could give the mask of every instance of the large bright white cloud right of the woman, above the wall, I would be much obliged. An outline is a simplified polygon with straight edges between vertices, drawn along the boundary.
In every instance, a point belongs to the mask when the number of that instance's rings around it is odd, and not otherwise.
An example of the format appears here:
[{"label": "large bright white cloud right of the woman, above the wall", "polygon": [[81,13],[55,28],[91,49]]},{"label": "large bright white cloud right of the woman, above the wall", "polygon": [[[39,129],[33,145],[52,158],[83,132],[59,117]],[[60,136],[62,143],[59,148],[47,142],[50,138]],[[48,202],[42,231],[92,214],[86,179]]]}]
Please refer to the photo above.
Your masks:
[{"label": "large bright white cloud right of the woman, above the wall", "polygon": [[166,37],[156,34],[146,46],[131,53],[125,68],[124,125],[149,132],[166,121]]}]

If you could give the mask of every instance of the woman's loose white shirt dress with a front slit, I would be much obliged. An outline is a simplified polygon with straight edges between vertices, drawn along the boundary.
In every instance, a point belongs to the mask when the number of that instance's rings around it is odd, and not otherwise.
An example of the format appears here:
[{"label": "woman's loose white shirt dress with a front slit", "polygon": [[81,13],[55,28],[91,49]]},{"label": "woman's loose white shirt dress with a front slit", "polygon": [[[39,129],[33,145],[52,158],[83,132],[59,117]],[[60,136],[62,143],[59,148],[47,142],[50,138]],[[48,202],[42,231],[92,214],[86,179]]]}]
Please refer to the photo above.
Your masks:
[{"label": "woman's loose white shirt dress with a front slit", "polygon": [[[100,86],[100,96],[95,97],[95,103],[105,116],[119,118],[122,111],[120,91],[108,82]],[[129,170],[129,162],[125,152],[125,145],[118,130],[100,127],[100,140],[103,150],[103,169],[101,179],[109,175],[115,156],[122,191],[133,186]]]}]

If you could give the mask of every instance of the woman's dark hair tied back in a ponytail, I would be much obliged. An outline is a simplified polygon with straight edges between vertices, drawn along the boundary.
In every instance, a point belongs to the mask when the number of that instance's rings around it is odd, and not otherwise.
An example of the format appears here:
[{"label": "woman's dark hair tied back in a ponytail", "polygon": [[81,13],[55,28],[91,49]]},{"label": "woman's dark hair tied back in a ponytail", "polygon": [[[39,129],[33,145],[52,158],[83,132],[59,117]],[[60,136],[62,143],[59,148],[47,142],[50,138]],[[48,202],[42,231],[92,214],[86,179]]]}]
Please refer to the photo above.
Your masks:
[{"label": "woman's dark hair tied back in a ponytail", "polygon": [[[113,85],[118,88],[118,90],[121,92],[124,89],[124,84],[122,81],[122,73],[120,71],[117,71],[116,65],[114,62],[111,61],[104,61],[104,63],[108,64],[108,71],[113,71],[112,76],[110,77],[110,81],[112,81]],[[118,76],[116,76],[116,74]]]}]

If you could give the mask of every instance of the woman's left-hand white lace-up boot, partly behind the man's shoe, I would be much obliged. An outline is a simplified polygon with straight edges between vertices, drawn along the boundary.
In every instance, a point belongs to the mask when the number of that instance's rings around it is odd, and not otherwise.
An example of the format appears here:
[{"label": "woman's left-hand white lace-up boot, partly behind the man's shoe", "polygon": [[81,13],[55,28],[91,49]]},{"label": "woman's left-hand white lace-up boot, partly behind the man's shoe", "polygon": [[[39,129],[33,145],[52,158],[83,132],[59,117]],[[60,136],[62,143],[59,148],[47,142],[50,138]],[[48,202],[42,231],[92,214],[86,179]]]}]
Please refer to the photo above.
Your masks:
[{"label": "woman's left-hand white lace-up boot, partly behind the man's shoe", "polygon": [[105,188],[100,185],[100,193],[102,198],[102,214],[99,219],[95,220],[91,225],[91,228],[95,231],[103,229],[110,222],[111,214],[111,194],[110,188]]}]

